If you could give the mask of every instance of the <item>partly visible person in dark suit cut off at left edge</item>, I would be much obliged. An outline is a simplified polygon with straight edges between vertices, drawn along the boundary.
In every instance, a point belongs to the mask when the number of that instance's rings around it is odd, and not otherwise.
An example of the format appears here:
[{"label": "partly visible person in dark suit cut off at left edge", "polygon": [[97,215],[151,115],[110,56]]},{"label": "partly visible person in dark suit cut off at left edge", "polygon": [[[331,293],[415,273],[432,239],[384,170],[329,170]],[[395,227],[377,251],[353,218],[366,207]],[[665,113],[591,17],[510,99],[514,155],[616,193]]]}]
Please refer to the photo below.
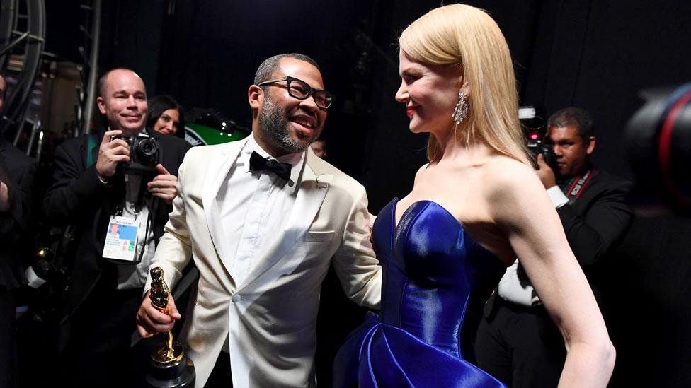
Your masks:
[{"label": "partly visible person in dark suit cut off at left edge", "polygon": [[[7,83],[0,75],[0,112]],[[0,129],[0,387],[16,387],[17,348],[13,290],[25,282],[18,242],[29,221],[33,159],[2,137]]]}]

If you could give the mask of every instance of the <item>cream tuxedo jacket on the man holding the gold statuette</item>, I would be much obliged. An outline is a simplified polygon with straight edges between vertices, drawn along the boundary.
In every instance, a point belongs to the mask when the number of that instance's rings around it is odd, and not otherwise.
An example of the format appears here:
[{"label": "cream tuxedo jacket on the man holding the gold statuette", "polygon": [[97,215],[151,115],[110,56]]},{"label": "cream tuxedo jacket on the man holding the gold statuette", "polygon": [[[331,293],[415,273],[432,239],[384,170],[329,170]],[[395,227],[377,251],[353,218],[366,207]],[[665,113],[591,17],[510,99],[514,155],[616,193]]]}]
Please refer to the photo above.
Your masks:
[{"label": "cream tuxedo jacket on the man holding the gold statuette", "polygon": [[379,307],[382,271],[369,241],[367,195],[308,147],[285,229],[258,249],[261,257],[238,284],[223,264],[234,252],[224,249],[216,196],[244,143],[187,153],[152,267],[164,269],[171,288],[190,257],[201,273],[181,335],[196,387],[204,386],[226,340],[235,388],[312,387],[319,291],[332,259],[348,297]]}]

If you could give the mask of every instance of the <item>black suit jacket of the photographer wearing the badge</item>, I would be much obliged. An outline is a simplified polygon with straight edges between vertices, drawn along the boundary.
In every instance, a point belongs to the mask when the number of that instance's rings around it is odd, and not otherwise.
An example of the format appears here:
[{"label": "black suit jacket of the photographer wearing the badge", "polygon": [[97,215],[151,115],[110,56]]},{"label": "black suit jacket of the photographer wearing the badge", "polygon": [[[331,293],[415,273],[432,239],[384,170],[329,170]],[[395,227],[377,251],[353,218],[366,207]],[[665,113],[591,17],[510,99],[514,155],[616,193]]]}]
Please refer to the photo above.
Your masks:
[{"label": "black suit jacket of the photographer wearing the badge", "polygon": [[[148,133],[159,142],[160,163],[172,175],[177,176],[178,167],[190,145],[175,136],[154,131]],[[95,136],[96,146],[91,150],[93,165],[88,167],[87,135],[65,141],[57,147],[53,184],[44,200],[45,212],[54,223],[76,226],[73,242],[75,249],[67,257],[68,260],[74,259],[74,262],[69,263],[72,268],[72,290],[68,295],[66,317],[79,308],[99,281],[108,283],[105,287],[112,286],[115,289],[116,286],[116,264],[106,261],[101,254],[109,218],[125,198],[125,184],[124,177],[118,173],[110,179],[113,182],[110,186],[98,180],[96,160],[103,131]],[[163,228],[171,210],[172,206],[165,201],[153,198],[152,208],[149,209],[152,213],[150,228],[156,245],[164,233]]]}]

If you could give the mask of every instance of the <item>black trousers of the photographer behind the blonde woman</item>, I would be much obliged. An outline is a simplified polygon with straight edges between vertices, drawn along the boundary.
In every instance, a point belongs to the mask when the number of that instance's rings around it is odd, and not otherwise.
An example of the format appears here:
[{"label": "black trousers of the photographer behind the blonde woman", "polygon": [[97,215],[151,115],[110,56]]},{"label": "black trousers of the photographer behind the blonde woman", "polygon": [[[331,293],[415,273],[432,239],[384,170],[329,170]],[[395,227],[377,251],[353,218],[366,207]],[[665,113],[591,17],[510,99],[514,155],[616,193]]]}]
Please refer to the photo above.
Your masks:
[{"label": "black trousers of the photographer behind the blonde woman", "polygon": [[475,341],[477,365],[512,388],[553,388],[566,348],[544,307],[523,307],[496,297]]}]

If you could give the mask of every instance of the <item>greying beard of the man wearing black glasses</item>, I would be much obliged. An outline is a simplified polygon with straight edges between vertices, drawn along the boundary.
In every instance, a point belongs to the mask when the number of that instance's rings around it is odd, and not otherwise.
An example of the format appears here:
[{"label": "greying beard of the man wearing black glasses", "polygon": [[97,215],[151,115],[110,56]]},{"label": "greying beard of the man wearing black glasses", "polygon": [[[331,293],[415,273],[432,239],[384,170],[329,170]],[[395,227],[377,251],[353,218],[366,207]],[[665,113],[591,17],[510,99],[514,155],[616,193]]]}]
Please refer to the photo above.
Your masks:
[{"label": "greying beard of the man wearing black glasses", "polygon": [[264,98],[264,105],[259,114],[259,128],[267,136],[267,140],[274,141],[283,151],[288,153],[302,152],[319,135],[315,131],[316,136],[310,136],[309,139],[292,139],[288,133],[288,124],[285,112],[269,98]]}]

